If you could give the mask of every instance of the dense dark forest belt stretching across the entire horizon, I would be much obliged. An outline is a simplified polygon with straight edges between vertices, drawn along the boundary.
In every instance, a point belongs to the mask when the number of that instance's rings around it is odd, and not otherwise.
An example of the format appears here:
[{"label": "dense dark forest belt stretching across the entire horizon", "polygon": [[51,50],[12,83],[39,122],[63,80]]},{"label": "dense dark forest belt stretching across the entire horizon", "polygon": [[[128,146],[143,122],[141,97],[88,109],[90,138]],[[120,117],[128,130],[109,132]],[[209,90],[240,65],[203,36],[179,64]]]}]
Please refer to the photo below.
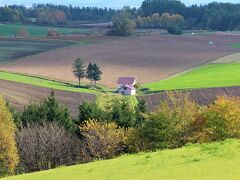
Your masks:
[{"label": "dense dark forest belt stretching across the entire horizon", "polygon": [[[31,8],[12,5],[0,7],[0,21],[33,22],[34,19],[37,24],[54,25],[65,24],[67,21],[111,20],[119,11],[121,10],[52,4],[35,4]],[[123,8],[122,11],[128,11],[131,19],[137,19],[138,27],[162,28],[164,25],[159,23],[154,25],[151,18],[156,16],[171,18],[177,15],[183,17],[182,26],[185,29],[226,31],[240,28],[240,4],[214,2],[186,6],[178,0],[145,0],[139,9]],[[139,25],[141,18],[144,23]]]}]

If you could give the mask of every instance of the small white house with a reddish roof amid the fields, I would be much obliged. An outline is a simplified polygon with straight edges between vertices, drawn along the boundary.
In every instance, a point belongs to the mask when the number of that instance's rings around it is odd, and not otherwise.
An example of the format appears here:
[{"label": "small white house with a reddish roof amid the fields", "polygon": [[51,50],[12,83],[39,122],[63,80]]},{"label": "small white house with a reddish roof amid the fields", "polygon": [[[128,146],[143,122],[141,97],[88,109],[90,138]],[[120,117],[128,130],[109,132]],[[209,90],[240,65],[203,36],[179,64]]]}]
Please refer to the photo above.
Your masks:
[{"label": "small white house with a reddish roof amid the fields", "polygon": [[136,88],[134,85],[136,83],[135,77],[119,77],[117,81],[118,92],[122,95],[135,95]]}]

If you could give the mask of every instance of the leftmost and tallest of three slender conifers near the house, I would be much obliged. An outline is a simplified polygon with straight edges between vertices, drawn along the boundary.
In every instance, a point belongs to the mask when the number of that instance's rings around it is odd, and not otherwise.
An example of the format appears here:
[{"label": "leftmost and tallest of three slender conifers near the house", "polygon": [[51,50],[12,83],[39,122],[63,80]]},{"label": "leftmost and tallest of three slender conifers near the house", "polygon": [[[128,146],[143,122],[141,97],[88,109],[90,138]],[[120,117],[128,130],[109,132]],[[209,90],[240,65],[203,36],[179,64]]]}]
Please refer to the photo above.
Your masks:
[{"label": "leftmost and tallest of three slender conifers near the house", "polygon": [[85,69],[84,69],[85,65],[82,61],[81,58],[77,58],[74,61],[73,64],[73,74],[76,78],[78,78],[78,84],[80,86],[81,84],[81,79],[83,79],[85,77]]}]

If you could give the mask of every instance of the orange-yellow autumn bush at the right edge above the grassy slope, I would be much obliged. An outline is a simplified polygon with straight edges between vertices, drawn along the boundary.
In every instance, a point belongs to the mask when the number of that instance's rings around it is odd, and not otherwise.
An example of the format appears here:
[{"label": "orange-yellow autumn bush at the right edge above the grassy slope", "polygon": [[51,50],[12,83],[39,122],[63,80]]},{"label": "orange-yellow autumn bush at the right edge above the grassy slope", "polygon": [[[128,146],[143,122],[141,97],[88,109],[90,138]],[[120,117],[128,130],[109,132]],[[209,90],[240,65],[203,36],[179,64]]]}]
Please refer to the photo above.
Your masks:
[{"label": "orange-yellow autumn bush at the right edge above the grassy slope", "polygon": [[202,123],[194,133],[196,142],[240,138],[240,99],[218,97],[202,111]]}]

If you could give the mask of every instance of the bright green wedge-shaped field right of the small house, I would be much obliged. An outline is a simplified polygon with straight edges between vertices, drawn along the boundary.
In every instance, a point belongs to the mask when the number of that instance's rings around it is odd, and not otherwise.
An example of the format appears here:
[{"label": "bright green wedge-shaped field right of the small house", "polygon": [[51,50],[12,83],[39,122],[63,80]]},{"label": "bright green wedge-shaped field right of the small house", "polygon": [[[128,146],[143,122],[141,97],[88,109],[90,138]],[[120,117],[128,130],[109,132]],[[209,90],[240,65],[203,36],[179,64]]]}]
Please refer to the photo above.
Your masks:
[{"label": "bright green wedge-shaped field right of the small house", "polygon": [[207,64],[189,72],[143,85],[148,91],[240,85],[240,63]]}]

